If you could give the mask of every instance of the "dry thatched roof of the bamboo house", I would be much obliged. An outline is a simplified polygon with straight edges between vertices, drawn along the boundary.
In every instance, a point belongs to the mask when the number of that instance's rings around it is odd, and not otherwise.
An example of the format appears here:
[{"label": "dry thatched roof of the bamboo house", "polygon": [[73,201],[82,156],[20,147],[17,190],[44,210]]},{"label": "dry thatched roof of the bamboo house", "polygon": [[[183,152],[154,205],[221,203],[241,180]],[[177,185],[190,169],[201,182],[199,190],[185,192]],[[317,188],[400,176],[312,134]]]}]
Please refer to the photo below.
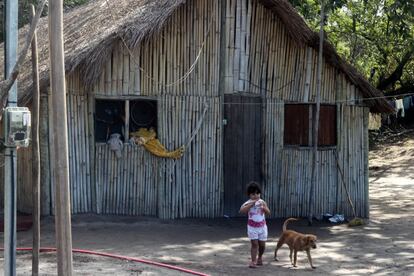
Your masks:
[{"label": "dry thatched roof of the bamboo house", "polygon": [[[191,0],[187,0],[191,1]],[[314,33],[287,2],[287,0],[258,0],[272,10],[285,24],[290,37],[301,45],[318,49],[318,34]],[[116,0],[108,1],[111,14],[107,12],[106,0],[93,0],[64,15],[66,71],[79,69],[87,85],[96,82],[110,57],[119,36],[128,47],[135,47],[143,39],[160,30],[170,15],[186,0]],[[39,70],[41,87],[49,85],[49,52],[47,18],[38,26]],[[23,44],[28,26],[19,32]],[[22,45],[20,45],[20,48]],[[0,64],[3,64],[3,45],[0,48]],[[352,66],[344,62],[327,42],[324,56],[328,63],[342,71],[361,90],[365,98],[381,97],[383,94],[372,87]],[[3,68],[0,73],[3,75]],[[19,76],[19,99],[31,98],[31,65],[27,59]],[[384,99],[367,101],[373,112],[389,112],[391,107]]]}]

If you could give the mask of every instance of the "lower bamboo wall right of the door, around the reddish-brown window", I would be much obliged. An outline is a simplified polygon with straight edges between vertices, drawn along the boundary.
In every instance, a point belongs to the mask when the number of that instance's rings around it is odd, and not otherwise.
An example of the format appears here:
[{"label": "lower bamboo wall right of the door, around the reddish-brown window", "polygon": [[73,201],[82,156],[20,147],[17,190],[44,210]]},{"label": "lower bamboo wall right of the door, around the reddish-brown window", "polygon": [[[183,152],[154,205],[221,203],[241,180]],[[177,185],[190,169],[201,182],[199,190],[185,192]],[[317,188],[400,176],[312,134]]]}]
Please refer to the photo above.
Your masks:
[{"label": "lower bamboo wall right of the door, around the reddish-brown window", "polygon": [[[265,118],[264,197],[276,217],[307,216],[313,154],[311,147],[283,147],[284,106],[268,99]],[[337,105],[337,146],[318,151],[318,182],[313,214],[352,215],[338,164],[358,216],[369,216],[368,125],[369,110]],[[336,159],[336,153],[338,161]]]}]

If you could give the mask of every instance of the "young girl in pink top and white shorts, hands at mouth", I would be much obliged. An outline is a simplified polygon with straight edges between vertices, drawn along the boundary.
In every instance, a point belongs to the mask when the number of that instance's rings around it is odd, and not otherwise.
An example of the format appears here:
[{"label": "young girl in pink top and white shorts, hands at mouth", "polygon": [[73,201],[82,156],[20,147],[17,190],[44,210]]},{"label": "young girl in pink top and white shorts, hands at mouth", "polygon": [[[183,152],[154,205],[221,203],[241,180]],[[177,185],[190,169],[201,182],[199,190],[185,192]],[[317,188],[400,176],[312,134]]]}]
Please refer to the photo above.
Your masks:
[{"label": "young girl in pink top and white shorts, hands at mouth", "polygon": [[[249,200],[246,201],[240,208],[240,213],[248,214],[247,221],[247,236],[251,241],[251,262],[250,268],[255,268],[256,265],[263,265],[262,256],[265,250],[267,240],[267,225],[265,214],[269,215],[270,210],[264,200],[260,199],[260,186],[256,182],[250,182],[247,185],[247,195]],[[257,261],[256,261],[257,257]]]}]

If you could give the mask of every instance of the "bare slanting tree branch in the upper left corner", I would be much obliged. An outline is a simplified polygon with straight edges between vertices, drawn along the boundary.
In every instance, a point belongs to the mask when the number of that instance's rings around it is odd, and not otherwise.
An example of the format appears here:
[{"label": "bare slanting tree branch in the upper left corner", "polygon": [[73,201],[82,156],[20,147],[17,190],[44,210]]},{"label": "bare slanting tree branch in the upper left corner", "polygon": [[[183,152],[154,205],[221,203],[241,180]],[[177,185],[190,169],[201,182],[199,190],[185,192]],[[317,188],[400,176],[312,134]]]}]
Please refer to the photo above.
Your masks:
[{"label": "bare slanting tree branch in the upper left corner", "polygon": [[[16,81],[17,76],[20,73],[20,66],[25,61],[27,51],[29,50],[30,44],[31,44],[32,39],[33,39],[34,32],[36,30],[37,24],[39,23],[40,15],[43,12],[43,8],[46,4],[46,1],[47,0],[42,0],[37,5],[36,16],[33,18],[33,20],[30,23],[30,29],[29,29],[29,32],[27,33],[27,36],[26,36],[26,42],[24,44],[24,47],[23,47],[22,51],[19,54],[17,62],[14,65],[13,70],[10,73],[10,75],[8,76],[8,78],[6,80],[3,80],[3,81],[0,82],[0,104],[1,104],[0,108],[2,108],[2,109],[7,104],[7,99],[9,97],[9,91],[10,91],[11,87],[13,86],[14,82]],[[0,114],[0,119],[1,119],[1,116],[2,115]]]}]

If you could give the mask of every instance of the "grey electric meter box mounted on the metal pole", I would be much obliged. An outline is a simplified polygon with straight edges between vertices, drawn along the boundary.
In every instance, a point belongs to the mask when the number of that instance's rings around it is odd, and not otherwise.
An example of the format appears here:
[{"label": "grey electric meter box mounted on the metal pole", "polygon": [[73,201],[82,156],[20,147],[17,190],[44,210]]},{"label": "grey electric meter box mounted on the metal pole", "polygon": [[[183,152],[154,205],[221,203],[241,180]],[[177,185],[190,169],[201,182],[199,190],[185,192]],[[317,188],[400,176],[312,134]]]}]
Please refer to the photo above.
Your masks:
[{"label": "grey electric meter box mounted on the metal pole", "polygon": [[27,107],[6,107],[3,111],[4,146],[28,147],[31,116]]}]

